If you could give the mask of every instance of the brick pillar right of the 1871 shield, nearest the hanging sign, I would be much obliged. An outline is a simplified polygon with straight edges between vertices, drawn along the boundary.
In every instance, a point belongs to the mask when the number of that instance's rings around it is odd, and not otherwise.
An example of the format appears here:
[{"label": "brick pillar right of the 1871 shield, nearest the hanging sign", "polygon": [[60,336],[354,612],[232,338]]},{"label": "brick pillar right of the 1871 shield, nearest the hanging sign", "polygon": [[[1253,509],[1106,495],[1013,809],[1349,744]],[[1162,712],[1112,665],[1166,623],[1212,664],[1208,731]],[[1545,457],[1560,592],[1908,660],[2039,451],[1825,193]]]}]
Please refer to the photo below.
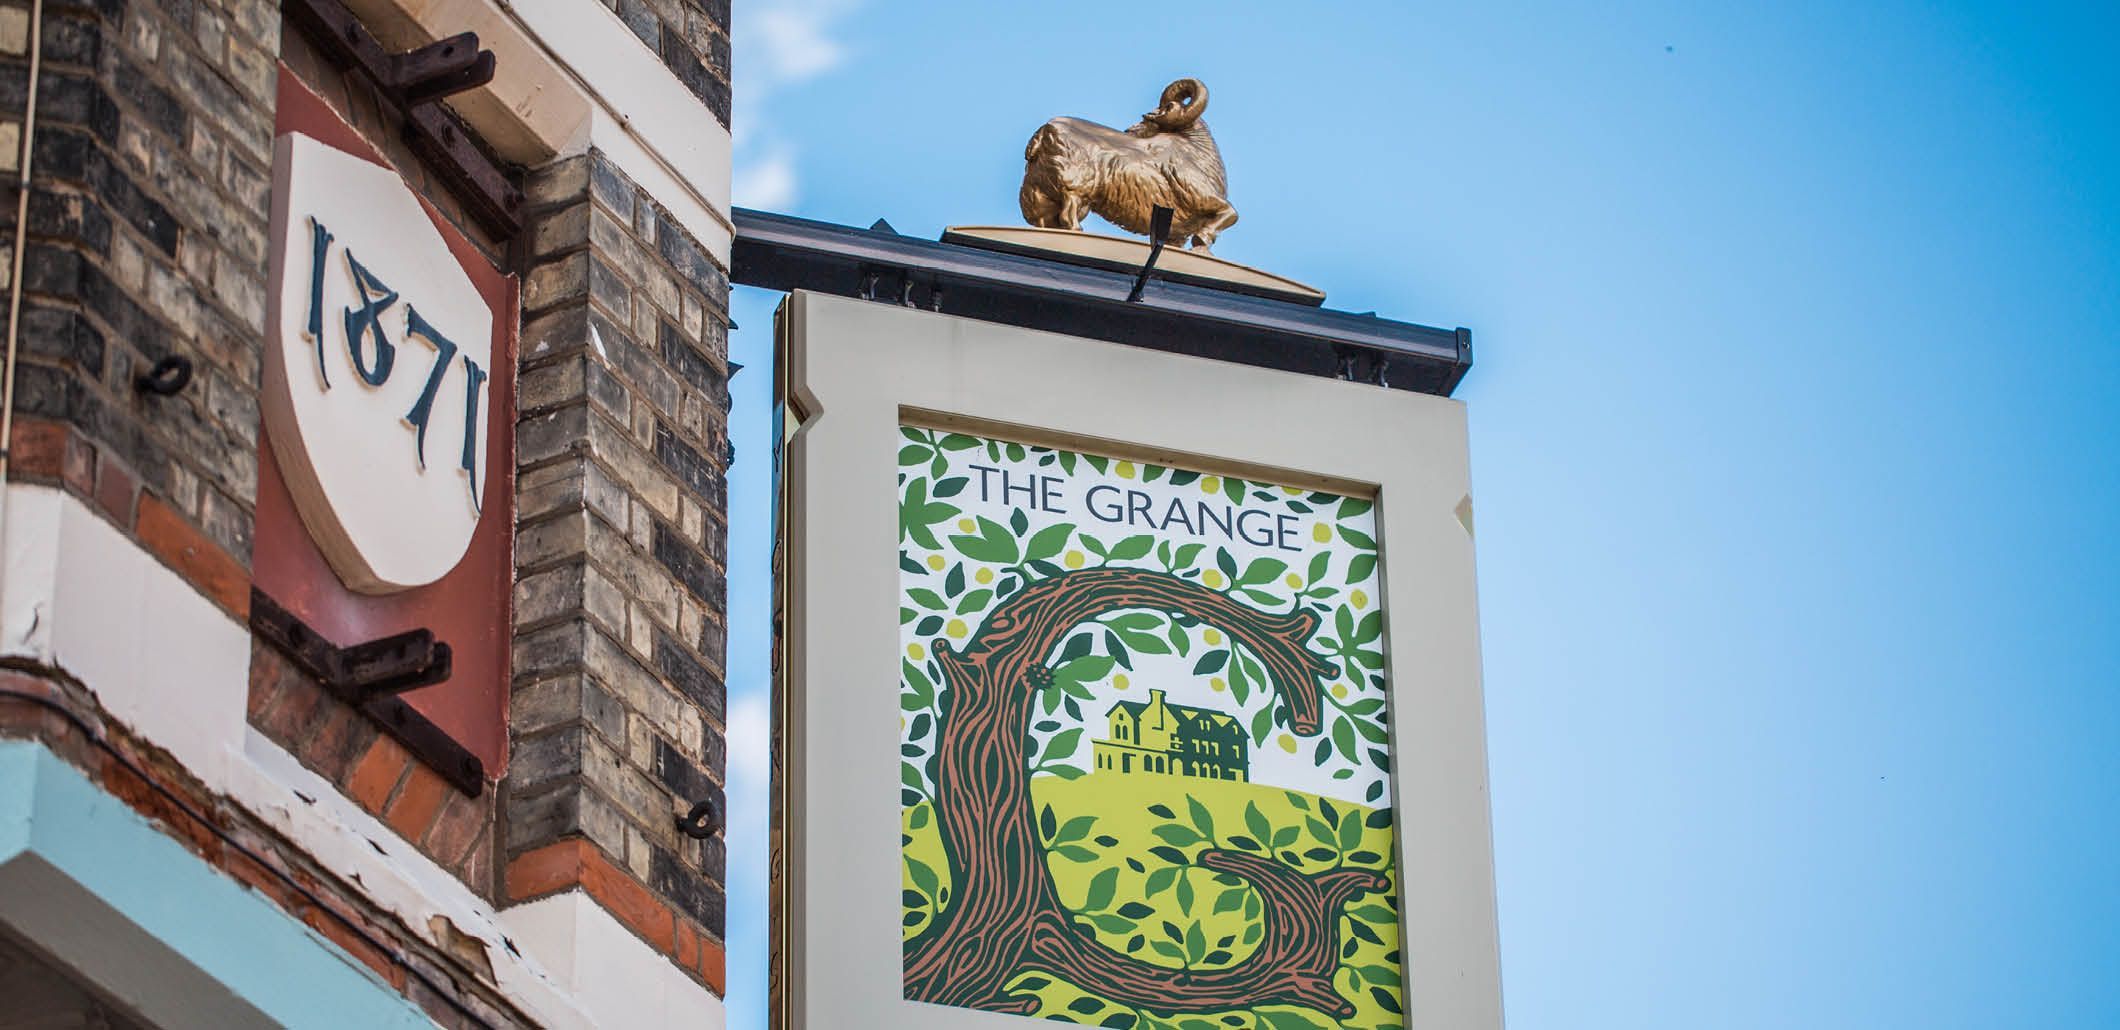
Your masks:
[{"label": "brick pillar right of the 1871 shield, nearest the hanging sign", "polygon": [[723,843],[676,816],[721,799],[729,284],[596,150],[526,193],[507,894],[583,886],[719,992]]}]

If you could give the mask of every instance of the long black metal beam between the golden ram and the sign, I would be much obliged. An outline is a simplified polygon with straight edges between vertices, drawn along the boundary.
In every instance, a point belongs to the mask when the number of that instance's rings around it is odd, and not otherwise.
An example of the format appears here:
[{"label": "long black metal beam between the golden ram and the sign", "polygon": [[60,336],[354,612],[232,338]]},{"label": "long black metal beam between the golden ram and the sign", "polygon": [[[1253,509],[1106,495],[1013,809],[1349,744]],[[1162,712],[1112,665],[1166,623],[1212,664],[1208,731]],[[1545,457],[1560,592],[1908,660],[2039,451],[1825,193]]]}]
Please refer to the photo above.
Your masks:
[{"label": "long black metal beam between the golden ram and the sign", "polygon": [[1393,322],[1151,280],[1134,273],[943,244],[787,214],[736,210],[729,278],[1068,333],[1136,348],[1450,396],[1471,367],[1471,331]]}]

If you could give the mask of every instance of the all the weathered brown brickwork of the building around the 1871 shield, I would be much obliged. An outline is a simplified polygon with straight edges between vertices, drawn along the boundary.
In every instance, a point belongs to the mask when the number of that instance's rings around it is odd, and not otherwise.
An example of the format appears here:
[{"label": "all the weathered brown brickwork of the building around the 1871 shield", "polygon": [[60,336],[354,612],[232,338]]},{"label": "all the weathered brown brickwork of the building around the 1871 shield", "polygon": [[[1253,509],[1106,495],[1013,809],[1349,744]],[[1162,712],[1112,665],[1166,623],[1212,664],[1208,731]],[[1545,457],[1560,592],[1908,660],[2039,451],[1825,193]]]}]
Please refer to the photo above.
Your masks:
[{"label": "all the weathered brown brickwork of the building around the 1871 shield", "polygon": [[[727,4],[617,0],[617,11],[725,123]],[[496,905],[585,890],[719,994],[723,841],[683,835],[676,816],[719,803],[723,784],[725,269],[594,150],[530,170],[522,237],[481,235],[399,144],[388,108],[288,34],[269,0],[53,0],[45,19],[8,477],[74,494],[231,617],[248,615],[284,53],[416,191],[522,273],[513,754],[481,801],[439,788],[263,649],[250,721]],[[25,40],[25,2],[0,0],[0,288]],[[193,384],[167,398],[136,392],[134,377],[170,354],[195,362]],[[76,702],[93,710],[93,697]],[[68,735],[38,718],[0,731]],[[443,962],[375,916],[358,884],[269,839],[235,805],[199,803],[405,954]],[[176,822],[174,835],[218,854]],[[316,916],[284,880],[227,869]],[[331,920],[312,924],[416,994],[405,969],[363,954]]]}]

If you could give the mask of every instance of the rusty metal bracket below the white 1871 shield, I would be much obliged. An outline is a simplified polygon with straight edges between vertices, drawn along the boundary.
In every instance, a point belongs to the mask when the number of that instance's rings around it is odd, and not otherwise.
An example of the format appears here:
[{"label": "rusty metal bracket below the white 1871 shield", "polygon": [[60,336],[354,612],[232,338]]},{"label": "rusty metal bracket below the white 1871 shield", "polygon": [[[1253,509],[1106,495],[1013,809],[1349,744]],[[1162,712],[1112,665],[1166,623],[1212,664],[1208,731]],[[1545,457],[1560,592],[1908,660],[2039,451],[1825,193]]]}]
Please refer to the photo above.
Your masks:
[{"label": "rusty metal bracket below the white 1871 shield", "polygon": [[458,791],[471,797],[485,791],[485,763],[399,697],[403,691],[432,687],[449,678],[449,644],[435,640],[432,629],[407,629],[339,646],[265,591],[252,587],[250,632],[286,655],[326,693],[356,708],[384,733],[405,744],[405,750]]}]

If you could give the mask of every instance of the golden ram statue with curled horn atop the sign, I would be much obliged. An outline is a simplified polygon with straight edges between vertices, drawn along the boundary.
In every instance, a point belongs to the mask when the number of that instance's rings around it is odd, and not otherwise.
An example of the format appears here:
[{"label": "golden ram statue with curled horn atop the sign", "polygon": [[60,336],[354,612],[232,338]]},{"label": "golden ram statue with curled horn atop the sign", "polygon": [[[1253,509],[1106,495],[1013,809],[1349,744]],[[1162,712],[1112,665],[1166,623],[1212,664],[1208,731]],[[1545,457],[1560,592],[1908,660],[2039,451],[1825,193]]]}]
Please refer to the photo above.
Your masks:
[{"label": "golden ram statue with curled horn atop the sign", "polygon": [[1024,220],[1041,229],[1081,229],[1085,214],[1149,233],[1155,208],[1170,208],[1170,239],[1202,254],[1236,225],[1230,180],[1215,136],[1200,121],[1206,85],[1179,78],[1155,110],[1119,131],[1083,119],[1054,119],[1024,146]]}]

